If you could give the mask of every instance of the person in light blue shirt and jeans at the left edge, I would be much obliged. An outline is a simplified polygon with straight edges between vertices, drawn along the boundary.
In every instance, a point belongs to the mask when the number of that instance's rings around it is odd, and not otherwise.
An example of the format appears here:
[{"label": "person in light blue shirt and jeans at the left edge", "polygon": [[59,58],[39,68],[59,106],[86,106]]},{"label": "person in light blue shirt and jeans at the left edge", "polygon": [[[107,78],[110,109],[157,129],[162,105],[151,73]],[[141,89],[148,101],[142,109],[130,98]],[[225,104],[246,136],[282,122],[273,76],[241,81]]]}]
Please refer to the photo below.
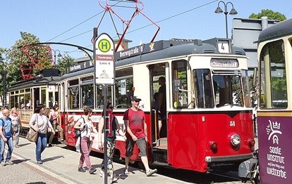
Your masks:
[{"label": "person in light blue shirt and jeans at the left edge", "polygon": [[[9,110],[2,110],[3,117],[0,120],[0,166],[12,165],[11,155],[13,152],[13,140],[15,139],[12,129],[11,118],[9,117]],[[4,150],[5,145],[8,145],[8,152],[6,155],[6,161],[4,162]]]}]

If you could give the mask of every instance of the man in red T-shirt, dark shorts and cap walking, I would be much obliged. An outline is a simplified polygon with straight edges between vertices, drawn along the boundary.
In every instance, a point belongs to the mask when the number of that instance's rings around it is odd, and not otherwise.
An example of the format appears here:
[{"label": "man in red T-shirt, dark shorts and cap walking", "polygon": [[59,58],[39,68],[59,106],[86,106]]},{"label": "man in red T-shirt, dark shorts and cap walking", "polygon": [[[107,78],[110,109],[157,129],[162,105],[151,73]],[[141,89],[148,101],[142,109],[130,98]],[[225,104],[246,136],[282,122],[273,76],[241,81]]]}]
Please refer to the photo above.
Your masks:
[{"label": "man in red T-shirt, dark shorts and cap walking", "polygon": [[157,173],[157,169],[150,169],[146,155],[147,138],[147,124],[145,123],[145,113],[138,108],[140,98],[133,96],[131,98],[131,107],[123,114],[123,120],[126,126],[126,169],[125,174],[128,174],[128,165],[130,156],[133,155],[134,145],[137,144],[139,148],[139,156],[145,166],[146,175],[152,176]]}]

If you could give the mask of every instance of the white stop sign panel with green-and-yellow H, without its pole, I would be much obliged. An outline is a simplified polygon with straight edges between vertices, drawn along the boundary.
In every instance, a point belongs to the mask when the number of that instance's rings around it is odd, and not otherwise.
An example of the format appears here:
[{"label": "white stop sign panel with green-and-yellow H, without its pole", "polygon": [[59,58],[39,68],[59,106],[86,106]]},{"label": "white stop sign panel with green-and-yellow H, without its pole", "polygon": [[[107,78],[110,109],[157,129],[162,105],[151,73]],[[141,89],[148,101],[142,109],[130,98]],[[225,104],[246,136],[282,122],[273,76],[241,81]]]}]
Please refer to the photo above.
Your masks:
[{"label": "white stop sign panel with green-and-yellow H, without its pole", "polygon": [[102,33],[95,39],[95,84],[115,82],[114,41],[109,34]]}]

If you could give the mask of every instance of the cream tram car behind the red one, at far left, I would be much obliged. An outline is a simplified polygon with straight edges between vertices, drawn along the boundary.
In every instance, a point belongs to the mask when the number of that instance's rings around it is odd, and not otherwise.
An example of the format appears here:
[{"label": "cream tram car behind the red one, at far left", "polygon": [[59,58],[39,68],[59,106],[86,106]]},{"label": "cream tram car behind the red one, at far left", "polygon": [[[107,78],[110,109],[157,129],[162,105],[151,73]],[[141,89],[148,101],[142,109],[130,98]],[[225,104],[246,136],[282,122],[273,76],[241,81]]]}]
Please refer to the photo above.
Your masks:
[{"label": "cream tram car behind the red one, at far left", "polygon": [[56,82],[59,78],[59,70],[46,69],[42,70],[39,76],[18,81],[8,89],[9,109],[16,107],[18,110],[23,135],[30,129],[28,123],[37,105],[43,104],[44,107],[52,108],[58,103]]}]

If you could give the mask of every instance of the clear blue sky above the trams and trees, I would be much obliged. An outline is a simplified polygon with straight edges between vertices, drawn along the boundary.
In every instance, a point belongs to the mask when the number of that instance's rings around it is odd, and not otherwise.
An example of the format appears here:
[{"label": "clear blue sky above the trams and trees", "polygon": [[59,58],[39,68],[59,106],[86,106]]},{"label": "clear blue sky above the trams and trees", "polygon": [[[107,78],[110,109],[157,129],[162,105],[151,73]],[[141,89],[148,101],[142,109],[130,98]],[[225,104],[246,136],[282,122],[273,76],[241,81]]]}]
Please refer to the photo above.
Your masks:
[{"label": "clear blue sky above the trams and trees", "polygon": [[[155,41],[161,39],[211,39],[226,37],[224,13],[214,13],[218,4],[224,11],[224,4],[216,0],[141,0],[138,8],[141,13],[135,15],[125,39],[131,40],[129,46],[149,43],[160,30]],[[232,19],[248,18],[251,13],[260,13],[270,9],[292,18],[291,0],[231,0],[237,15],[227,15],[229,37],[231,36]],[[117,15],[107,11],[106,3]],[[103,8],[102,8],[103,7]],[[131,7],[131,8],[129,8]],[[61,42],[75,44],[93,50],[91,42],[93,27],[99,25],[99,34],[106,32],[112,39],[118,39],[135,11],[133,2],[97,1],[97,0],[0,0],[0,47],[11,48],[20,32],[28,32],[39,38],[40,42]],[[231,11],[231,4],[227,4]],[[147,18],[144,15],[147,16]],[[102,18],[104,15],[104,18]],[[111,16],[114,23],[111,21]],[[120,19],[121,18],[121,19]],[[152,21],[150,21],[149,19]],[[75,47],[51,45],[61,55],[73,58],[84,56],[83,51]],[[58,55],[59,51],[56,51]]]}]

